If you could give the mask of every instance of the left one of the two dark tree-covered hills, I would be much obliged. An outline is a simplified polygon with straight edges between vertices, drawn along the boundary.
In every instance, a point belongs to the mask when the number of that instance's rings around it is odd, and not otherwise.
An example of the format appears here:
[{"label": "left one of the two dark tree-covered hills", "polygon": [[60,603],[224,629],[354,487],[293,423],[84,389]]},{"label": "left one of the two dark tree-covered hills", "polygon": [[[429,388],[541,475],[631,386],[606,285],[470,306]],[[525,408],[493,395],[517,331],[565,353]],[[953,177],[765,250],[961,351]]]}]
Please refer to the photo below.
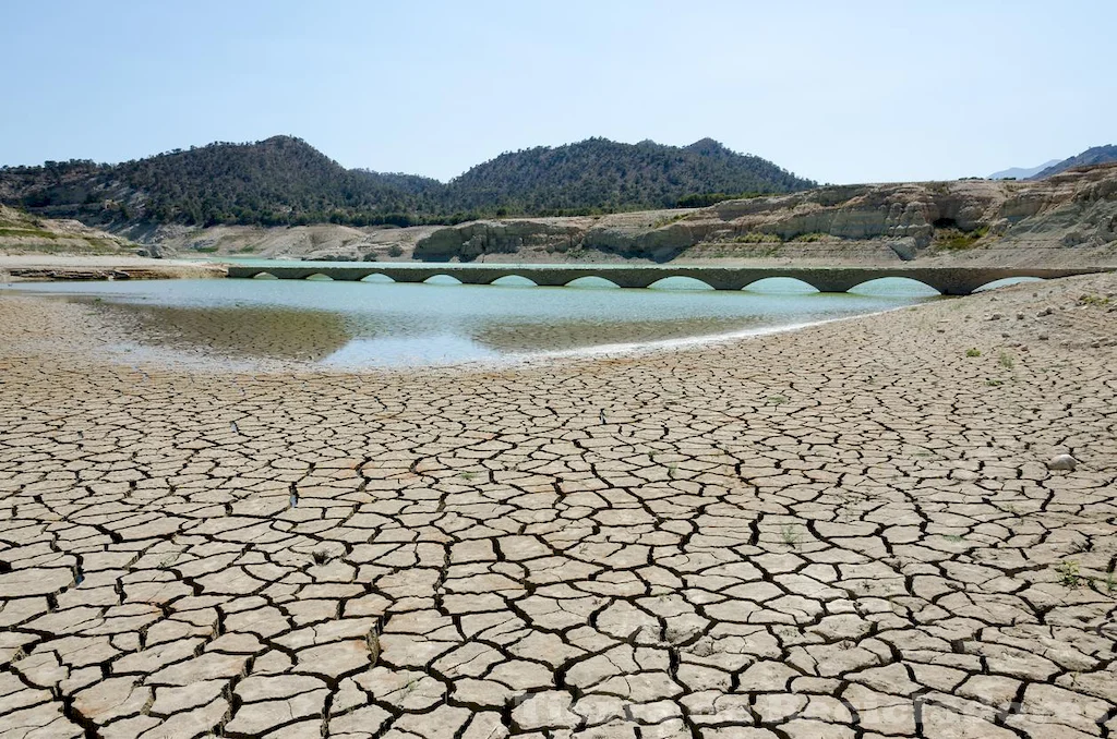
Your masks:
[{"label": "left one of the two dark tree-covered hills", "polygon": [[274,136],[116,165],[71,160],[8,167],[0,171],[0,201],[94,224],[276,225],[414,211],[418,180],[351,172],[299,138]]}]

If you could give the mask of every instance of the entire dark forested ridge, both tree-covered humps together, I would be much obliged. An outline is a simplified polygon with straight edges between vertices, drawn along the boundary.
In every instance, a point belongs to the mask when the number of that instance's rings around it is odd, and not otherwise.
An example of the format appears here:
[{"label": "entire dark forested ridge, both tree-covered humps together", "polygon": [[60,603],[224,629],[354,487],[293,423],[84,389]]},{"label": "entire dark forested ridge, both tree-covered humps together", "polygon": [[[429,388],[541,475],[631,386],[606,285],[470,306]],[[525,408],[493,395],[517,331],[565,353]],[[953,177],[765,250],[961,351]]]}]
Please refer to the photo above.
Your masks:
[{"label": "entire dark forested ridge, both tree-covered humps together", "polygon": [[214,143],[122,164],[0,170],[0,202],[102,227],[455,223],[675,205],[687,195],[790,192],[814,183],[703,140],[685,148],[592,138],[502,154],[449,184],[346,170],[306,142]]}]

